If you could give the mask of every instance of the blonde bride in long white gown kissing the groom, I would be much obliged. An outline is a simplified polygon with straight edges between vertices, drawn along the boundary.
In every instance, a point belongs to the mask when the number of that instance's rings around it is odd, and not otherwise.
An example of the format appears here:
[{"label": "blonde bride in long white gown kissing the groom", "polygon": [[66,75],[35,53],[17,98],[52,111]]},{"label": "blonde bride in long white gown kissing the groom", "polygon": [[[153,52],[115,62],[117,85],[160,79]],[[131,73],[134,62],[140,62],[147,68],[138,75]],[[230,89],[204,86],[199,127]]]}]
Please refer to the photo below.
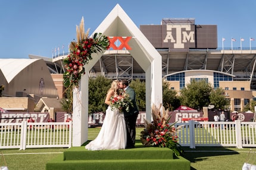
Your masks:
[{"label": "blonde bride in long white gown kissing the groom", "polygon": [[124,114],[118,108],[111,108],[110,98],[118,94],[117,80],[113,81],[111,88],[108,90],[105,104],[108,105],[104,123],[98,136],[85,146],[88,150],[104,149],[125,149],[126,147],[126,123]]}]

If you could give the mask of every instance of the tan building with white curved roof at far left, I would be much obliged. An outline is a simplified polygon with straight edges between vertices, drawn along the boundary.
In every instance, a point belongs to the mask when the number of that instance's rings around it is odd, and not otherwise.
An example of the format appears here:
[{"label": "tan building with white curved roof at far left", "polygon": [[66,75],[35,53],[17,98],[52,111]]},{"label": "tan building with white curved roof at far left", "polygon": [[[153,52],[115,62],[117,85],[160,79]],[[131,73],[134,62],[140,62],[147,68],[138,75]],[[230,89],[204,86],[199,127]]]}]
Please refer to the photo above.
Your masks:
[{"label": "tan building with white curved roof at far left", "polygon": [[0,59],[0,85],[0,107],[8,111],[34,111],[41,97],[59,98],[43,59]]}]

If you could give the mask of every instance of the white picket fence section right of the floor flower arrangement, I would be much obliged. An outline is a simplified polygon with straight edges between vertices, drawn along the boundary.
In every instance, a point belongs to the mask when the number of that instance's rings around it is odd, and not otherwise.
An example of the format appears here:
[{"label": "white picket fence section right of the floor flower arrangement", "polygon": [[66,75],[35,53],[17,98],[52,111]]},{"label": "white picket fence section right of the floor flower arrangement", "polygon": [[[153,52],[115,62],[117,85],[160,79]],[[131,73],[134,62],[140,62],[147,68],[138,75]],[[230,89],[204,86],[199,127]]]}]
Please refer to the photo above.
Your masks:
[{"label": "white picket fence section right of the floor flower arrangement", "polygon": [[256,147],[256,122],[191,120],[177,126],[182,126],[178,132],[182,146]]}]

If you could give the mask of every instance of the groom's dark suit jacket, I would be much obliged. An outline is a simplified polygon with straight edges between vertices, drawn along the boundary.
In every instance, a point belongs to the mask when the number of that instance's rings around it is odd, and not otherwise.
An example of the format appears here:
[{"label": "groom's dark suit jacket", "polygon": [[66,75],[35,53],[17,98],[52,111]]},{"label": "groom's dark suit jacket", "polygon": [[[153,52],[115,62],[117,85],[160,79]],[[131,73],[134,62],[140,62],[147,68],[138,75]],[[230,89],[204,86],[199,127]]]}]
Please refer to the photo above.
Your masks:
[{"label": "groom's dark suit jacket", "polygon": [[130,86],[128,86],[125,90],[125,93],[129,95],[130,99],[132,100],[132,105],[129,105],[129,112],[127,112],[125,110],[125,108],[123,109],[124,112],[124,117],[127,116],[132,116],[133,114],[136,115],[139,113],[138,107],[136,105],[136,94],[133,88],[131,88]]}]

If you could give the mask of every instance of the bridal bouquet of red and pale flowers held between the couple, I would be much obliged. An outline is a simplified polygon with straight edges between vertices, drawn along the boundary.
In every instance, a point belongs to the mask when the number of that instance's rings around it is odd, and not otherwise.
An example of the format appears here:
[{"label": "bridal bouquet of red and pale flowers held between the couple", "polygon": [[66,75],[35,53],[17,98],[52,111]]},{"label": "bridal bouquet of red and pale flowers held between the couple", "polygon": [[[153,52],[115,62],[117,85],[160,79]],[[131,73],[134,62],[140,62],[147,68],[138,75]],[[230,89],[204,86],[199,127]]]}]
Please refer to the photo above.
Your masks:
[{"label": "bridal bouquet of red and pale flowers held between the couple", "polygon": [[118,108],[119,110],[125,108],[128,112],[130,110],[129,106],[132,105],[132,100],[127,94],[115,95],[110,98],[110,101],[111,110],[114,110],[114,108]]}]

